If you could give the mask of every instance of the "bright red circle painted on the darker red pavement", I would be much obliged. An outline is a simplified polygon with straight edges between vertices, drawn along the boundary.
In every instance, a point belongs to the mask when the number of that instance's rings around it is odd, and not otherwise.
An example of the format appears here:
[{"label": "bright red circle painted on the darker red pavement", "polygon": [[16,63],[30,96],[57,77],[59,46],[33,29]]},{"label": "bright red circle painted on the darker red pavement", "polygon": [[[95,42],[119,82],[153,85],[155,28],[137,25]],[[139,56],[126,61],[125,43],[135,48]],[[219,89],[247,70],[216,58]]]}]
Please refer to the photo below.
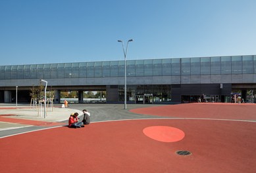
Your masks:
[{"label": "bright red circle painted on the darker red pavement", "polygon": [[148,126],[143,129],[143,133],[160,142],[178,142],[185,136],[182,130],[172,126]]}]

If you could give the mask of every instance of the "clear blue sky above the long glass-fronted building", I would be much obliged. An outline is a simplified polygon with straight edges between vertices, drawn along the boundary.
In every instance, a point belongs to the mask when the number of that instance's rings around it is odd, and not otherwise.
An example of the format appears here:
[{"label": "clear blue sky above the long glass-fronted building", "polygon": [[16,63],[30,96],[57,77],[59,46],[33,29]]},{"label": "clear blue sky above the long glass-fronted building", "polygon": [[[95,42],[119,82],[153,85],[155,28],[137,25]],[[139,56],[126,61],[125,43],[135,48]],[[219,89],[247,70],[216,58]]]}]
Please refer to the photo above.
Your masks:
[{"label": "clear blue sky above the long glass-fronted building", "polygon": [[[256,54],[255,0],[0,0],[0,65]],[[126,44],[125,44],[126,45]]]}]

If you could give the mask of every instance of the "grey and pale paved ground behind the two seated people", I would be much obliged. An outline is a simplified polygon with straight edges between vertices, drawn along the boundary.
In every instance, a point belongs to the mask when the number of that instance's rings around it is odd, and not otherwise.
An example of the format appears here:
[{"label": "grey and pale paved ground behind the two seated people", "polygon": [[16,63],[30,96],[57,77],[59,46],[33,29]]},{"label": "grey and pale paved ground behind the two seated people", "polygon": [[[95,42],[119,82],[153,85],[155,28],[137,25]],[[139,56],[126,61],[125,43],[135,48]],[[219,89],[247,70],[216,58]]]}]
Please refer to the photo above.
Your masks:
[{"label": "grey and pale paved ground behind the two seated people", "polygon": [[[91,123],[122,119],[152,119],[155,116],[138,115],[129,111],[130,109],[151,106],[161,105],[129,104],[127,105],[127,109],[124,109],[123,104],[70,104],[67,108],[61,108],[61,104],[58,104],[54,105],[53,109],[51,109],[51,107],[47,107],[47,115],[44,116],[44,107],[38,108],[28,104],[18,104],[17,107],[16,104],[0,104],[0,115],[4,115],[2,117],[10,119],[46,121],[49,123],[59,122],[64,123],[64,125],[68,125],[70,113],[78,112],[81,116],[82,109],[87,109],[91,113]],[[51,126],[51,128],[52,127],[54,126]],[[20,123],[8,123],[0,120],[0,138],[34,130],[42,130],[45,128],[49,128],[49,126],[22,125]]]}]

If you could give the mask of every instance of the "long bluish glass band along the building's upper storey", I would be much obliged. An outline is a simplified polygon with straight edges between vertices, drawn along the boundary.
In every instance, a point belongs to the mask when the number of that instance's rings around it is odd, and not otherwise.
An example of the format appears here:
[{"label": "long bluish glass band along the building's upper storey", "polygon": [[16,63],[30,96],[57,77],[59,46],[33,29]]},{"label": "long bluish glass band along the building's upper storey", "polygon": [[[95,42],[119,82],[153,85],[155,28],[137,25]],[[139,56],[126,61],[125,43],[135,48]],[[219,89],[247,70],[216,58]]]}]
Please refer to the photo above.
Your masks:
[{"label": "long bluish glass band along the building's upper storey", "polygon": [[[128,77],[255,74],[256,55],[128,60]],[[0,79],[122,77],[124,61],[0,66]]]}]

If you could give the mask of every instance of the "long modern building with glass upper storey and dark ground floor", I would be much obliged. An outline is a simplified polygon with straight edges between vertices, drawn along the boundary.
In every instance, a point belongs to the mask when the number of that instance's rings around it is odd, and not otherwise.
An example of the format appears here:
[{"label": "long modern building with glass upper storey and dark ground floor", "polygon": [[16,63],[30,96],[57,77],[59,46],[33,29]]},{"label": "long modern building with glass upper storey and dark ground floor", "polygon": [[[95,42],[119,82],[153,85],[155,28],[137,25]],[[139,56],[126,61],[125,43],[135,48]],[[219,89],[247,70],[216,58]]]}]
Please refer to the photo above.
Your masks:
[{"label": "long modern building with glass upper storey and dark ground floor", "polygon": [[[30,102],[30,89],[39,80],[55,90],[105,91],[107,103],[124,102],[124,60],[0,66],[0,102]],[[18,88],[16,87],[18,86]],[[253,102],[256,94],[256,55],[165,58],[127,61],[128,104],[231,102],[232,94]]]}]

